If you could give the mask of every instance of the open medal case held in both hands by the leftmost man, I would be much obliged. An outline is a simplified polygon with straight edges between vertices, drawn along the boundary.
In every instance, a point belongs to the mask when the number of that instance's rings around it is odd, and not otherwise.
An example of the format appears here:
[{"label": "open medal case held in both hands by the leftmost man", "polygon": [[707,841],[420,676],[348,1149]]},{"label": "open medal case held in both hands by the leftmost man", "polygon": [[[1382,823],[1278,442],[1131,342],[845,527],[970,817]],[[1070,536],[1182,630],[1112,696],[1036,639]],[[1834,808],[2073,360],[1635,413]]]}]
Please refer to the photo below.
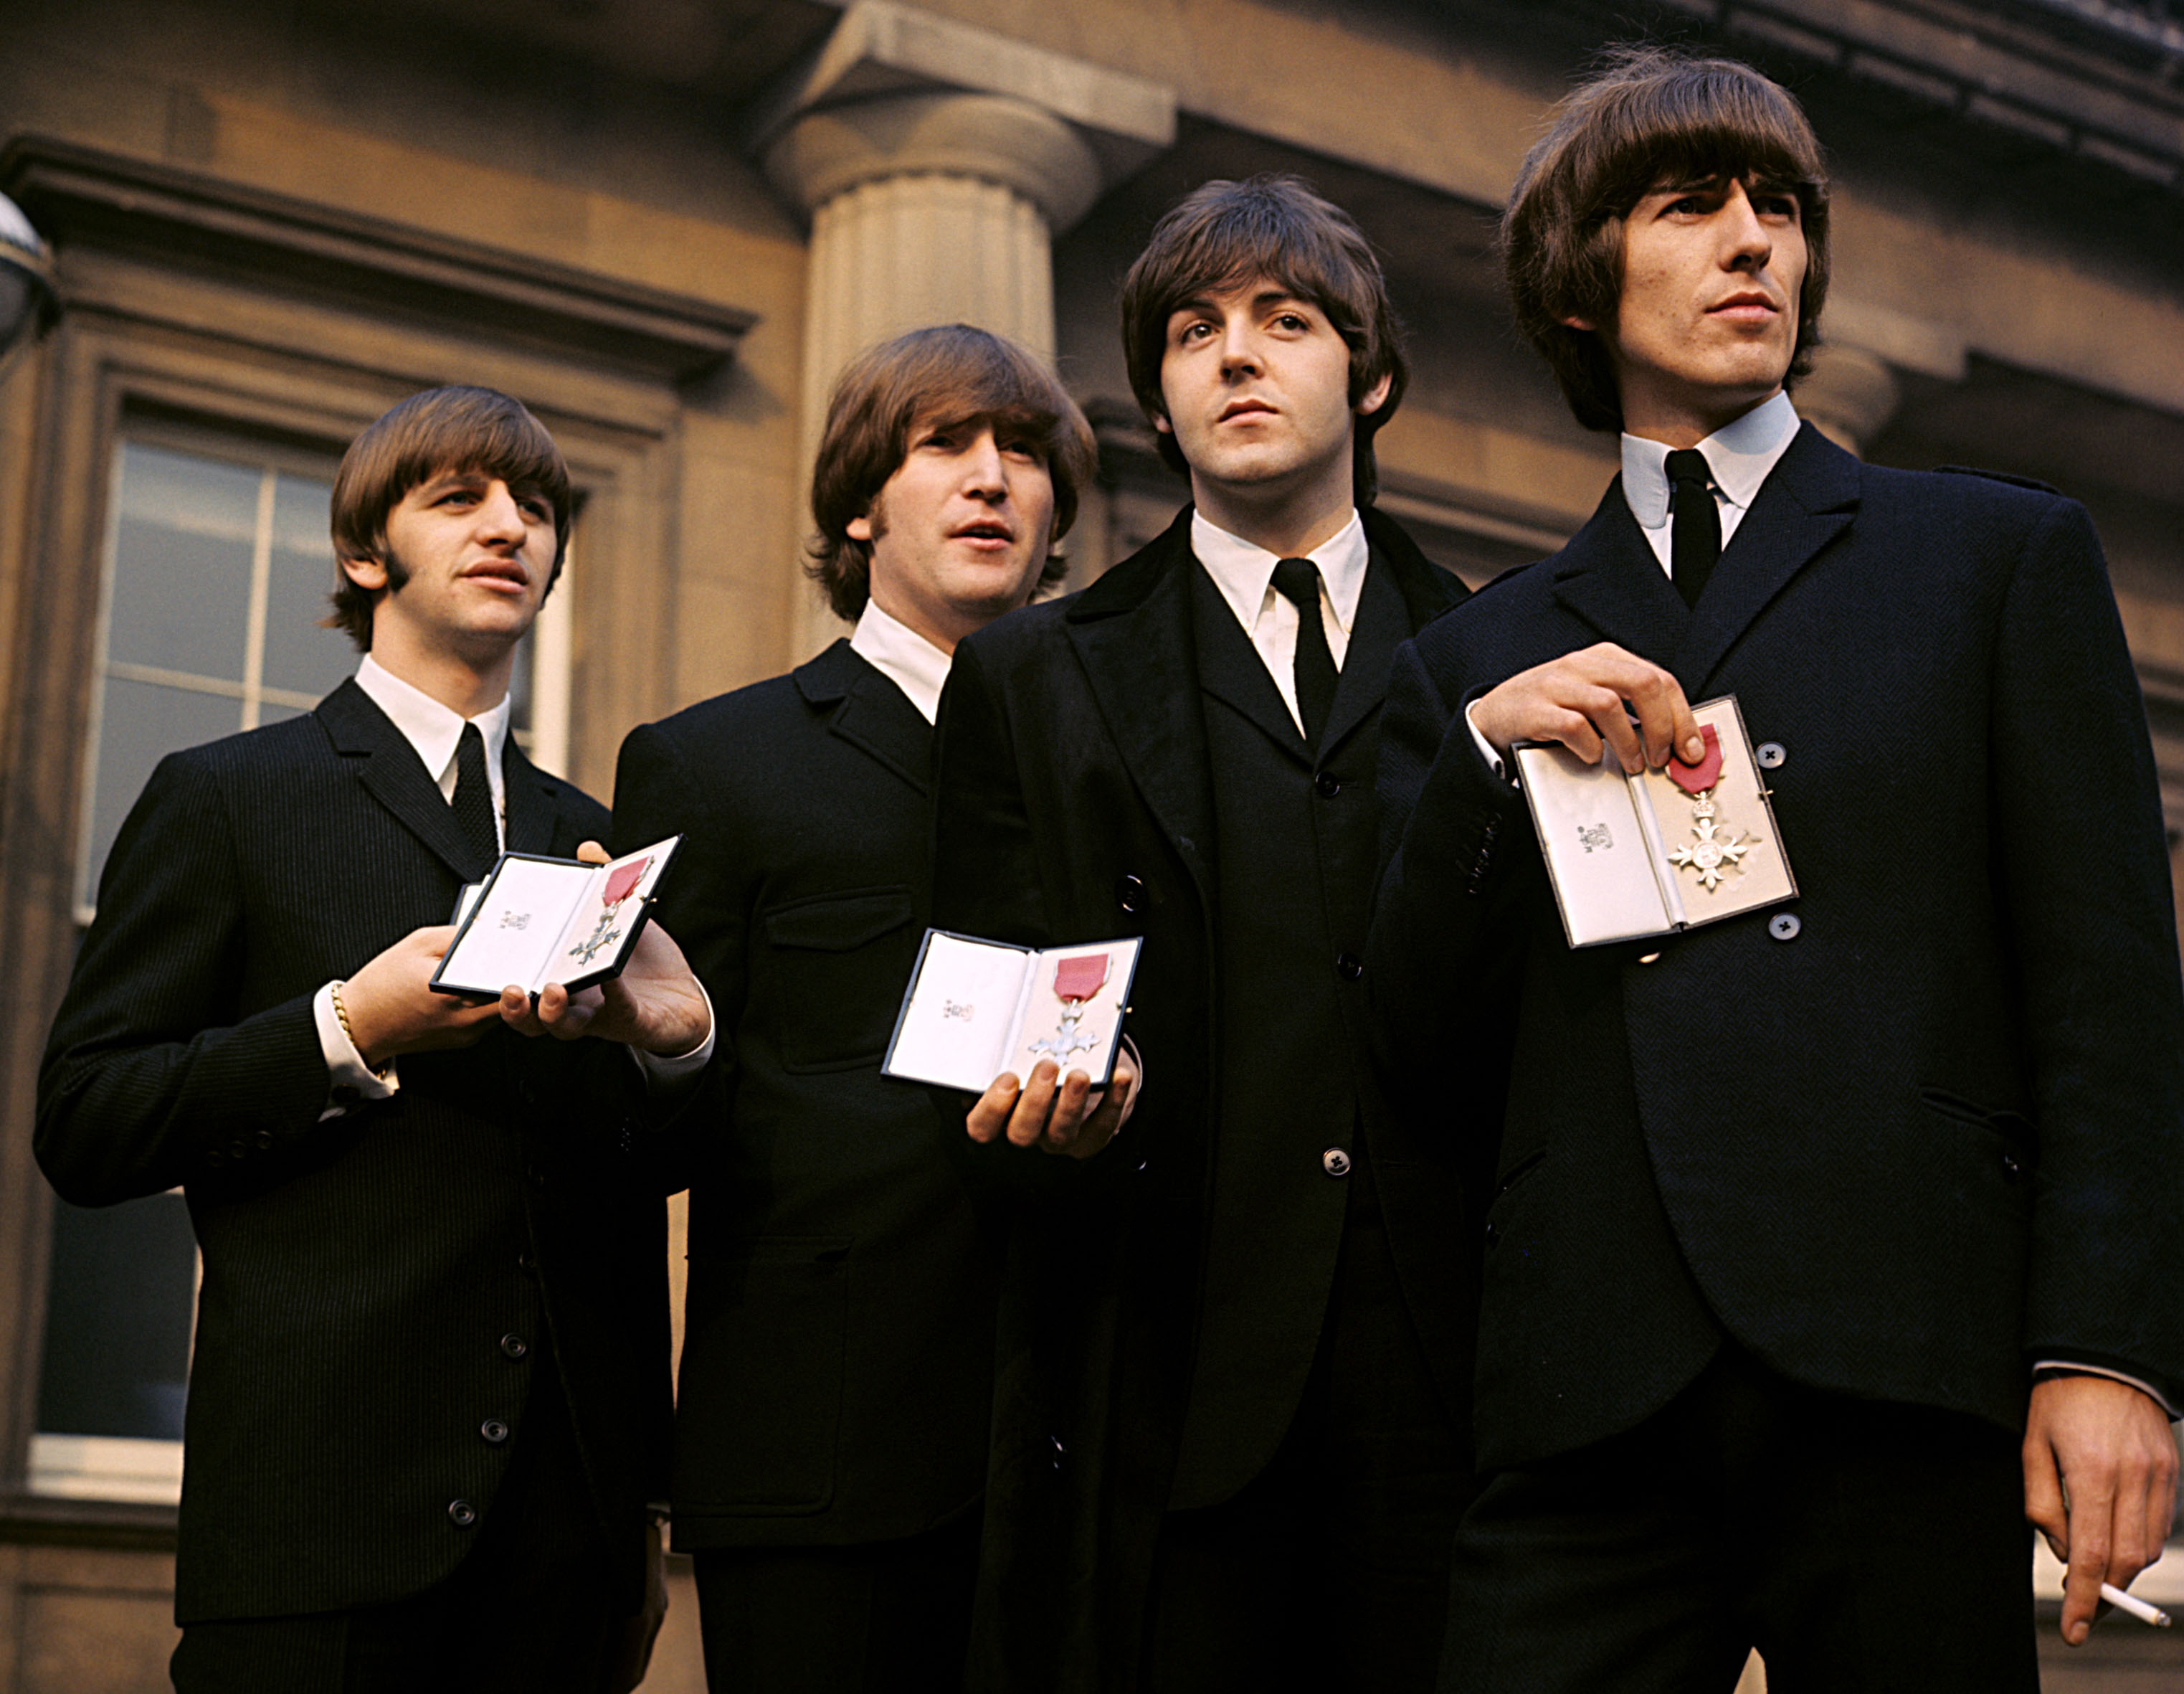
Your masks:
[{"label": "open medal case held in both hands by the leftmost man", "polygon": [[618,977],[677,846],[681,835],[670,835],[603,866],[502,852],[480,887],[463,890],[432,988],[498,999],[509,984],[537,995],[559,981],[577,992]]}]

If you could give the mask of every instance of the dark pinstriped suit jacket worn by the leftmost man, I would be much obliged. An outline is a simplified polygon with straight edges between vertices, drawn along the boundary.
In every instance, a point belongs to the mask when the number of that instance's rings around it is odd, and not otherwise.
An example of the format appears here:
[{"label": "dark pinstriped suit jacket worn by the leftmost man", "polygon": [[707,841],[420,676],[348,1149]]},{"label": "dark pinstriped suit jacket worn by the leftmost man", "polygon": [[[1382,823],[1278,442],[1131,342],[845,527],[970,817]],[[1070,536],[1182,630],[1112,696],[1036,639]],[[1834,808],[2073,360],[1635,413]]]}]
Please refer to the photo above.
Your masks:
[{"label": "dark pinstriped suit jacket worn by the leftmost man", "polygon": [[[601,807],[507,750],[509,846],[572,855]],[[181,1185],[203,1250],[175,1611],[373,1604],[446,1576],[491,1510],[524,1384],[566,1384],[627,1576],[666,1475],[666,1242],[603,1043],[408,1054],[321,1121],[312,995],[446,922],[470,855],[384,713],[177,752],[129,813],[39,1075],[37,1156],[76,1204]],[[507,1338],[507,1342],[505,1342]],[[520,1353],[520,1357],[511,1357]],[[631,1587],[629,1602],[636,1607]]]}]

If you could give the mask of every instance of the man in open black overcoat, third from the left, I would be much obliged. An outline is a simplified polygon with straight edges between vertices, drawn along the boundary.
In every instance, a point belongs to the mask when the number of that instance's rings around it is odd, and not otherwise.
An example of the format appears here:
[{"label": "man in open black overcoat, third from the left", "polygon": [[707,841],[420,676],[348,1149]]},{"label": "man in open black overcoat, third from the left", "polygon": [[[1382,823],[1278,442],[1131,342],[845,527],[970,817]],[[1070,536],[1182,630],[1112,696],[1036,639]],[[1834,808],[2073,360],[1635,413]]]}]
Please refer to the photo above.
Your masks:
[{"label": "man in open black overcoat, third from the left", "polygon": [[[1463,588],[1372,505],[1404,361],[1339,208],[1201,186],[1123,337],[1192,505],[965,640],[941,704],[935,922],[1144,938],[1142,1108],[1016,1231],[972,1687],[1424,1690],[1470,1242],[1361,977],[1387,667]],[[968,1128],[1035,1161],[1081,1084],[1020,1082]]]}]

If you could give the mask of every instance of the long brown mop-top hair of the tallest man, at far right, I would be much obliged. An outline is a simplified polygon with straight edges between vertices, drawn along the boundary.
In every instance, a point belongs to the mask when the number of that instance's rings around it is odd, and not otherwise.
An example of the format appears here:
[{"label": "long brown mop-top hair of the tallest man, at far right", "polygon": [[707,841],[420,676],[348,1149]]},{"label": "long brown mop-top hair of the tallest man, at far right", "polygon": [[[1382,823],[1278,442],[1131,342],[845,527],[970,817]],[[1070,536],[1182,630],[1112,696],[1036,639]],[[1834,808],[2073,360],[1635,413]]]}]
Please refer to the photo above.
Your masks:
[{"label": "long brown mop-top hair of the tallest man, at far right", "polygon": [[1586,428],[1623,428],[1607,343],[1564,319],[1612,323],[1623,295],[1623,219],[1662,184],[1734,177],[1789,190],[1806,269],[1789,383],[1813,369],[1828,299],[1828,170],[1797,101],[1736,59],[1616,48],[1555,107],[1503,214],[1503,271],[1518,328]]}]

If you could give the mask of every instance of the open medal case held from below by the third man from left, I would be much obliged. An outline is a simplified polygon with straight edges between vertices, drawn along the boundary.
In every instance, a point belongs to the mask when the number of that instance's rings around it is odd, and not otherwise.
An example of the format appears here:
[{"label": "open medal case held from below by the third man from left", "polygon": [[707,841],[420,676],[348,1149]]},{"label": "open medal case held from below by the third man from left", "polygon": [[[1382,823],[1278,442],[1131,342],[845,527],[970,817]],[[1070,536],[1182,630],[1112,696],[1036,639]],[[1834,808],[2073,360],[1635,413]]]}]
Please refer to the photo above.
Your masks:
[{"label": "open medal case held from below by the third man from left", "polygon": [[983,942],[928,929],[887,1043],[885,1075],[985,1093],[1002,1071],[1042,1058],[1107,1082],[1123,1038],[1138,938],[1051,946]]}]

